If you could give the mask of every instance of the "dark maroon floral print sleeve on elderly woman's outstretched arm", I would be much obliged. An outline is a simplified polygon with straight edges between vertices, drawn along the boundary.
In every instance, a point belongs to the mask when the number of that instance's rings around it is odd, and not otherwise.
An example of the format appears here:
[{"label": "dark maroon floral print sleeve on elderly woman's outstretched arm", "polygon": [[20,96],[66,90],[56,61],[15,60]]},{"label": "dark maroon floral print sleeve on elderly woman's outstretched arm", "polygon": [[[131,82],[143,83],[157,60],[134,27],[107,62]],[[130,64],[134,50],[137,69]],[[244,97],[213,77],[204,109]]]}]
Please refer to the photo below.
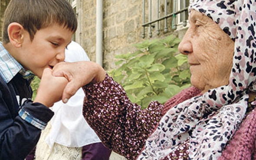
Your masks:
[{"label": "dark maroon floral print sleeve on elderly woman's outstretched arm", "polygon": [[88,84],[83,89],[86,121],[106,147],[134,160],[163,116],[163,105],[154,101],[142,110],[108,74],[102,82]]}]

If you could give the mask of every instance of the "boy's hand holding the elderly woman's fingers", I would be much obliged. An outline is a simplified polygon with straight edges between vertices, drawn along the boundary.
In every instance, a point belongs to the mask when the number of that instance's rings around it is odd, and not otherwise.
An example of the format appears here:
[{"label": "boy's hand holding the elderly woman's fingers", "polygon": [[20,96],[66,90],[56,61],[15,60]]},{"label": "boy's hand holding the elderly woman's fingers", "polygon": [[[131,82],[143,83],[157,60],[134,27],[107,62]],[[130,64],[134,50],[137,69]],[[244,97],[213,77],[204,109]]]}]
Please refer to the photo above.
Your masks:
[{"label": "boy's hand holding the elderly woman's fingers", "polygon": [[61,99],[67,83],[68,80],[65,77],[54,77],[52,70],[46,68],[43,71],[34,102],[40,102],[47,107],[53,106],[55,102]]}]

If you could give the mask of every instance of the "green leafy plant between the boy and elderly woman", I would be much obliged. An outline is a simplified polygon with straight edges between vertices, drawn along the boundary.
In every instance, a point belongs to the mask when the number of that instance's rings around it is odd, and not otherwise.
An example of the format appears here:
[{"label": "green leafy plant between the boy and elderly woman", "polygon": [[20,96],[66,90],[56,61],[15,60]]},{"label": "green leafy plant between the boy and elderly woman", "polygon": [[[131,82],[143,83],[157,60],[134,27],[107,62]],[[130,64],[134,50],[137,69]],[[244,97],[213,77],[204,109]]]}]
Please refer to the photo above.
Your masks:
[{"label": "green leafy plant between the boy and elderly woman", "polygon": [[161,103],[190,86],[187,56],[178,54],[180,39],[164,39],[135,44],[133,53],[116,55],[116,69],[108,74],[120,83],[132,102],[146,108],[152,100]]}]

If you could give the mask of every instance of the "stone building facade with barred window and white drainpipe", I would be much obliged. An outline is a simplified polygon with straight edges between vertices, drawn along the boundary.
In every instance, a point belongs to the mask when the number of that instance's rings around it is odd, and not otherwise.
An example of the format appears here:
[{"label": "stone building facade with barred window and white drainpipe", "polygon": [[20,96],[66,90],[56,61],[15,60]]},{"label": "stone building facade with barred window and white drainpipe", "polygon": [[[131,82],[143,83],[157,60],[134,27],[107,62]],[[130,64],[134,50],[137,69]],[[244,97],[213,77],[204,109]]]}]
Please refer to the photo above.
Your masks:
[{"label": "stone building facade with barred window and white drainpipe", "polygon": [[[78,19],[78,29],[73,40],[82,45],[91,61],[97,61],[97,51],[100,51],[101,65],[106,70],[116,67],[115,55],[135,51],[134,44],[171,34],[182,38],[187,29],[189,0],[68,1]],[[0,0],[1,32],[3,13],[9,2],[10,0]],[[99,3],[101,7],[98,7]],[[102,14],[101,20],[97,19],[99,14]],[[97,37],[100,31],[102,33]],[[102,42],[96,45],[100,39]]]}]

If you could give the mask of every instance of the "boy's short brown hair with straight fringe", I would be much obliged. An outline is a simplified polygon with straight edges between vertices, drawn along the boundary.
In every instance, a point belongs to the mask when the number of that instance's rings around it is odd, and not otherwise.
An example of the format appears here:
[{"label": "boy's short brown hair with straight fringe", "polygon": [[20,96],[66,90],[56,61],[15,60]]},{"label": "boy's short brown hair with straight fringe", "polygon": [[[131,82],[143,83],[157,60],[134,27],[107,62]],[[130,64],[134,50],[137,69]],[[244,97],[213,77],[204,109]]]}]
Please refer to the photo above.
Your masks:
[{"label": "boy's short brown hair with straight fringe", "polygon": [[53,24],[67,27],[72,32],[77,29],[77,19],[67,0],[10,0],[3,19],[3,42],[10,42],[8,26],[20,23],[30,34],[31,41],[39,29]]}]

